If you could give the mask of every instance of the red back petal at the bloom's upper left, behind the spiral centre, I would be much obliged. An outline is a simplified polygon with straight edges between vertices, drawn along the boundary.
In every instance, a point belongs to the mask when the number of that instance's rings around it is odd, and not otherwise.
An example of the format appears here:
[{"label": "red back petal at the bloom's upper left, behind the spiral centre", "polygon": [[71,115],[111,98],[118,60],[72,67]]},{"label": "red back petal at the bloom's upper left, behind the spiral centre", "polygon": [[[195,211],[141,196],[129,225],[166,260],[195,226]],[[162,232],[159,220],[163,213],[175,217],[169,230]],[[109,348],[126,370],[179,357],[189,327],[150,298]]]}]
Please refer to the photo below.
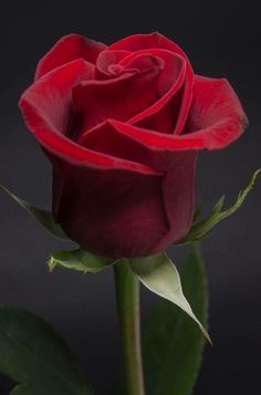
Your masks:
[{"label": "red back petal at the bloom's upper left, behind the spiral centre", "polygon": [[35,80],[49,71],[70,63],[76,59],[84,59],[95,63],[96,59],[107,46],[101,42],[86,39],[79,34],[64,35],[55,45],[40,60]]}]

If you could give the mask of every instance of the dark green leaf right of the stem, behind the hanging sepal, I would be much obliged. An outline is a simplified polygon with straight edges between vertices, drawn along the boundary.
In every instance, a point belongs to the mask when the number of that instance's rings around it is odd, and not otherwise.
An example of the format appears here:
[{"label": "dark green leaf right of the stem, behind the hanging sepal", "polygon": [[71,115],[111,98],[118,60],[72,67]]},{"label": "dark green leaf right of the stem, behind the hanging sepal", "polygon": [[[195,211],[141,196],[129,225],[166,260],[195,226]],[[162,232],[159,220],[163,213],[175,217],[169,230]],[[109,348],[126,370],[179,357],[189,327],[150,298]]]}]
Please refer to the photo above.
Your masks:
[{"label": "dark green leaf right of the stem, behind the hanging sepal", "polygon": [[[180,277],[194,312],[207,328],[208,289],[197,246],[191,247]],[[147,394],[190,395],[205,346],[192,321],[161,300],[148,318],[143,345]]]}]

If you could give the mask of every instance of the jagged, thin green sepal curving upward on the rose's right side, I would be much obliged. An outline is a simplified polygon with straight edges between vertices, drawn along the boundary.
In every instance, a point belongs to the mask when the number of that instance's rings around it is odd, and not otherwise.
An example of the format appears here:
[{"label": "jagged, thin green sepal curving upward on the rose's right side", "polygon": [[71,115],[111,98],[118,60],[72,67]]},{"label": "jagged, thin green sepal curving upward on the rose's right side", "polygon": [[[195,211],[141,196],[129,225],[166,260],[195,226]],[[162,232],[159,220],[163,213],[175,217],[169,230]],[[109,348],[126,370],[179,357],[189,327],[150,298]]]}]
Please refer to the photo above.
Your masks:
[{"label": "jagged, thin green sepal curving upward on the rose's right side", "polygon": [[218,201],[216,202],[212,214],[210,214],[205,219],[198,220],[199,211],[201,211],[201,208],[200,208],[200,210],[196,210],[194,225],[192,225],[190,231],[184,239],[181,239],[180,241],[178,241],[175,245],[176,246],[185,246],[185,245],[189,245],[191,242],[203,240],[203,239],[210,237],[211,236],[210,230],[218,222],[220,222],[221,220],[231,216],[233,212],[236,212],[242,206],[244,199],[247,198],[249,193],[253,189],[255,181],[257,181],[258,177],[260,176],[260,174],[261,174],[261,169],[258,169],[257,171],[254,171],[252,178],[250,179],[249,185],[243,190],[240,190],[236,202],[231,207],[227,208],[226,210],[222,211],[222,208],[225,205],[225,195],[221,196],[218,199]]}]

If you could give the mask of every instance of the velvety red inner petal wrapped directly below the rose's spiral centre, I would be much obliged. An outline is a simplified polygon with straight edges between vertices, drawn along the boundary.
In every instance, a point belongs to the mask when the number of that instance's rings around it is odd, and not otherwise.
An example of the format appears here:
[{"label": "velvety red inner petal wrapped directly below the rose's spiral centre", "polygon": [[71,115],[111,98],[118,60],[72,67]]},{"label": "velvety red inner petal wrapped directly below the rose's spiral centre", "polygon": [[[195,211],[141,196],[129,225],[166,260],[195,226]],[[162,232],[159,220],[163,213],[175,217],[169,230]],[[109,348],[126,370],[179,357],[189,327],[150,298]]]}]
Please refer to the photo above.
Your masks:
[{"label": "velvety red inner petal wrapped directly below the rose's spiral centre", "polygon": [[[82,114],[82,133],[112,117],[127,121],[158,101],[160,64],[144,56],[146,69],[112,80],[84,82],[73,90],[73,103]],[[81,134],[82,134],[81,133]],[[81,135],[80,134],[80,135]]]}]

